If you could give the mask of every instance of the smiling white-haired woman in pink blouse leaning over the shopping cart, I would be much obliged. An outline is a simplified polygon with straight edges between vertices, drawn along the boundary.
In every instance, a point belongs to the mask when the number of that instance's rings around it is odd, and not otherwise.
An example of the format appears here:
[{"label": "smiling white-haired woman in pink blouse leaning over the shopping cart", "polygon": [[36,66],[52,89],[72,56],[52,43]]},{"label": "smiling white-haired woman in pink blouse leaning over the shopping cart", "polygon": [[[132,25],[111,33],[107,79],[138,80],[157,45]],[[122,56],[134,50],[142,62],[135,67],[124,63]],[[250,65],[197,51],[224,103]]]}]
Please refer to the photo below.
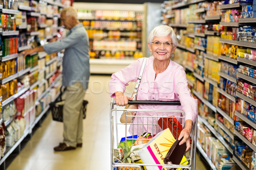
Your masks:
[{"label": "smiling white-haired woman in pink blouse leaning over the shopping cart", "polygon": [[[173,62],[170,57],[174,55],[177,47],[177,38],[173,29],[169,26],[155,27],[148,37],[148,48],[151,57],[148,58],[143,72],[140,86],[137,91],[137,100],[160,100],[175,101],[180,100],[181,106],[170,105],[138,105],[139,109],[166,109],[166,110],[182,110],[185,112],[185,127],[181,131],[179,140],[183,137],[180,144],[186,142],[187,150],[190,149],[189,136],[192,130],[193,122],[198,116],[198,104],[192,97],[188,88],[186,73],[182,66]],[[115,98],[116,105],[125,106],[132,97],[124,96],[125,86],[128,82],[136,82],[140,74],[140,68],[143,59],[138,59],[126,68],[112,74],[109,82],[110,94]],[[143,115],[143,113],[137,113]],[[152,116],[154,113],[148,113]],[[173,113],[168,113],[172,116]],[[143,123],[143,118],[134,118],[134,124]],[[152,123],[152,120],[149,123]],[[145,124],[145,120],[144,120]],[[129,132],[144,132],[152,134],[151,126],[131,125]],[[158,127],[157,132],[161,131]]]}]

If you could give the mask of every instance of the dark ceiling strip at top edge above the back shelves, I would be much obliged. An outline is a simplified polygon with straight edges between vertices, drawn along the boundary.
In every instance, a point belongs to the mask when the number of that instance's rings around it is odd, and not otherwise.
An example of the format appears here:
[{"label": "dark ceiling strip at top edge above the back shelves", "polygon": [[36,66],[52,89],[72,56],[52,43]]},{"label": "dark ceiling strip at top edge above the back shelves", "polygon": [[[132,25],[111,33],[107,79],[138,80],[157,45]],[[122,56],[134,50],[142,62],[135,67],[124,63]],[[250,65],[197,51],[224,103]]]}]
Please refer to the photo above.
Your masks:
[{"label": "dark ceiling strip at top edge above the back shelves", "polygon": [[74,0],[79,3],[163,3],[163,0]]}]

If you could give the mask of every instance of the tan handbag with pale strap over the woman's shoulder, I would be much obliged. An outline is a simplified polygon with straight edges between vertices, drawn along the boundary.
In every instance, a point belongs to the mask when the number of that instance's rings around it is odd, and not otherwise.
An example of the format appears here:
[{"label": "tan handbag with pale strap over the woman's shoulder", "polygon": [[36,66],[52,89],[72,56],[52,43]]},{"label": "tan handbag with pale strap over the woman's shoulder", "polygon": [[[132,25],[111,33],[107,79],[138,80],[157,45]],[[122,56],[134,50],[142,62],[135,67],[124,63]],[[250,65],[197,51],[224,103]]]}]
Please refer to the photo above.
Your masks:
[{"label": "tan handbag with pale strap over the woman's shoulder", "polygon": [[[137,91],[138,91],[138,88],[139,88],[139,85],[140,85],[140,80],[142,78],[147,60],[148,60],[147,57],[143,58],[143,62],[142,62],[141,68],[140,68],[140,74],[139,74],[139,77],[137,79],[136,86],[134,87],[134,92],[131,96],[133,100],[136,100]],[[125,109],[138,109],[138,105],[126,105]],[[133,120],[133,117],[130,117],[130,116],[132,116],[134,113],[135,113],[135,111],[124,111],[122,113],[121,117],[120,117],[120,122],[121,123],[125,123],[125,122],[126,123],[131,123],[132,120]],[[126,115],[128,115],[128,117]],[[125,121],[125,119],[126,119],[126,121]]]}]

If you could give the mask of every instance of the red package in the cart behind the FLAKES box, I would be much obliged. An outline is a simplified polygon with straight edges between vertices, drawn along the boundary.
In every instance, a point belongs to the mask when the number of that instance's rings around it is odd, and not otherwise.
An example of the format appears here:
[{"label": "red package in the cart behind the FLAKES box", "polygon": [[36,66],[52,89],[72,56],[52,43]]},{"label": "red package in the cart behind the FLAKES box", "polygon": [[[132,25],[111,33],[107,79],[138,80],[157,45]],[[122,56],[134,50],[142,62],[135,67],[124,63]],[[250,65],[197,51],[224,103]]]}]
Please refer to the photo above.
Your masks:
[{"label": "red package in the cart behind the FLAKES box", "polygon": [[183,129],[180,122],[174,116],[170,116],[170,118],[160,118],[157,123],[162,130],[165,130],[168,127],[175,139],[179,138],[180,132]]}]

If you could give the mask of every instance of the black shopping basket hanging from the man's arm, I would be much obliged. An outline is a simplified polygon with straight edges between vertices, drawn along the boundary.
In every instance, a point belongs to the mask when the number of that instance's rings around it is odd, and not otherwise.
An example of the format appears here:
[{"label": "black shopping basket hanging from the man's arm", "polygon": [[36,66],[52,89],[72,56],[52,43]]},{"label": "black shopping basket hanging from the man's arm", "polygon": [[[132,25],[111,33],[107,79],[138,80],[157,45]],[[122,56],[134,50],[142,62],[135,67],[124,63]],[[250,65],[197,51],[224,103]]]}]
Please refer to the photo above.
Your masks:
[{"label": "black shopping basket hanging from the man's arm", "polygon": [[[50,109],[52,111],[52,119],[58,122],[63,122],[63,106],[64,106],[64,100],[61,99],[61,95],[59,97],[59,100],[57,99],[55,102],[50,102]],[[86,118],[86,107],[87,107],[88,101],[83,101],[82,106],[82,113],[83,113],[83,119]]]}]

